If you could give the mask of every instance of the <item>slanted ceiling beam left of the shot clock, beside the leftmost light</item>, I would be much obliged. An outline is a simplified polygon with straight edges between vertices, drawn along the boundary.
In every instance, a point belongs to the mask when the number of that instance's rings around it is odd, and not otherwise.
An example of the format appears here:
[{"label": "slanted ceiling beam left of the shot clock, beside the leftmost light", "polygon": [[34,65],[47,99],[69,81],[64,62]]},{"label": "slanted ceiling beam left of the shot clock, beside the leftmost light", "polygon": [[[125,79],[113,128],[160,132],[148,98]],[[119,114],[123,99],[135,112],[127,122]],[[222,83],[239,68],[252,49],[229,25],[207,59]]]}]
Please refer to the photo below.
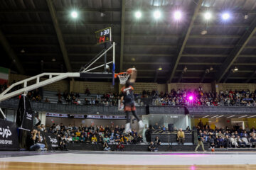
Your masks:
[{"label": "slanted ceiling beam left of the shot clock, beside the leftmost light", "polygon": [[61,33],[61,30],[60,30],[60,26],[59,26],[58,18],[57,18],[57,13],[55,11],[55,7],[53,6],[53,1],[52,0],[46,0],[46,2],[47,2],[47,5],[48,5],[48,8],[49,8],[49,11],[50,11],[50,16],[53,20],[53,26],[55,28],[55,31],[56,31],[56,34],[57,34],[57,37],[58,37],[58,42],[60,43],[60,50],[63,53],[63,59],[64,59],[64,62],[65,62],[65,67],[68,69],[68,72],[72,72],[70,60],[68,58],[68,52],[67,52],[67,49],[65,47],[65,42],[64,42],[64,39],[63,39],[63,35]]}]

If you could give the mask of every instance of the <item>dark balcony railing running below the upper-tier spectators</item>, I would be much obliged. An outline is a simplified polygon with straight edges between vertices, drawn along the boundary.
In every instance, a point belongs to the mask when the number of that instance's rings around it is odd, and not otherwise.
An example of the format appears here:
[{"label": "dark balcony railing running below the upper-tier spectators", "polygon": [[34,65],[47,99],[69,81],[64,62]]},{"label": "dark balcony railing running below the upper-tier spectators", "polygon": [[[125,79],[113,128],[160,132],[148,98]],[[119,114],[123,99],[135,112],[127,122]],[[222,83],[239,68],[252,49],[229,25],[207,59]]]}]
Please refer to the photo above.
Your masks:
[{"label": "dark balcony railing running below the upper-tier spectators", "polygon": [[[0,103],[1,108],[18,108],[18,98],[11,98]],[[31,101],[33,111],[51,113],[82,113],[100,115],[122,115],[117,106],[77,106]],[[137,107],[139,115],[146,115],[146,107]],[[149,106],[150,114],[190,114],[190,115],[256,115],[256,107],[250,106]]]}]

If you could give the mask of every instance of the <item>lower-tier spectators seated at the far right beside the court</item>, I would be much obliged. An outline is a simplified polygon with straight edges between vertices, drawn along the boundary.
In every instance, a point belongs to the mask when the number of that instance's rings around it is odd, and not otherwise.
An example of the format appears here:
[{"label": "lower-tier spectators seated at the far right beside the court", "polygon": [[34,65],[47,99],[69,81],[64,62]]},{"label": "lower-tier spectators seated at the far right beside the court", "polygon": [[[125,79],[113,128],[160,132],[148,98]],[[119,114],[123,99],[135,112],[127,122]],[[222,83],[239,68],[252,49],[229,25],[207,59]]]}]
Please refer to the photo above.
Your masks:
[{"label": "lower-tier spectators seated at the far right beside the court", "polygon": [[245,129],[236,124],[232,129],[226,127],[213,130],[208,123],[203,125],[200,120],[196,130],[201,140],[209,143],[210,148],[255,147],[256,144],[256,129],[250,129],[247,125]]}]

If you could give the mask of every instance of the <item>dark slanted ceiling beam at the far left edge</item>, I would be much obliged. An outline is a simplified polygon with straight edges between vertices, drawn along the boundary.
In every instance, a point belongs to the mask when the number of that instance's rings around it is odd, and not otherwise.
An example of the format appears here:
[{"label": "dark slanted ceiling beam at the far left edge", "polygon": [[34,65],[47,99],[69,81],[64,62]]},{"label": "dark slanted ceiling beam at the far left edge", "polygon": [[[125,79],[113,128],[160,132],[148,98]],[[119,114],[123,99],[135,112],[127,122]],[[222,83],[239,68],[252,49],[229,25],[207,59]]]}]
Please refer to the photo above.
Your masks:
[{"label": "dark slanted ceiling beam at the far left edge", "polygon": [[11,59],[11,62],[15,64],[18,72],[20,74],[25,74],[25,71],[23,69],[23,66],[21,65],[21,62],[18,60],[18,57],[16,56],[14,50],[11,48],[11,45],[9,44],[8,40],[6,39],[6,37],[4,36],[4,33],[1,30],[0,30],[0,43],[4,47],[4,50],[6,51],[9,58]]}]

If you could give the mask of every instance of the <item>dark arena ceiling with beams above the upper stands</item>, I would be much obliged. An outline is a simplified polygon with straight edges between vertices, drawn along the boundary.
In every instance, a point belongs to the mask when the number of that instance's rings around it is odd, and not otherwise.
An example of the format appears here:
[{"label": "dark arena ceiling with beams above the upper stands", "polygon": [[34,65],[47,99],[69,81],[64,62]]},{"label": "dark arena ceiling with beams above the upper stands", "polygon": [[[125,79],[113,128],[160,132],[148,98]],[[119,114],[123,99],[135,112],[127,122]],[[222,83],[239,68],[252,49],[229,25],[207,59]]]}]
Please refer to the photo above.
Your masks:
[{"label": "dark arena ceiling with beams above the upper stands", "polygon": [[1,0],[0,66],[27,75],[78,72],[102,51],[95,31],[111,27],[117,72],[136,67],[138,81],[252,83],[255,26],[255,0]]}]

